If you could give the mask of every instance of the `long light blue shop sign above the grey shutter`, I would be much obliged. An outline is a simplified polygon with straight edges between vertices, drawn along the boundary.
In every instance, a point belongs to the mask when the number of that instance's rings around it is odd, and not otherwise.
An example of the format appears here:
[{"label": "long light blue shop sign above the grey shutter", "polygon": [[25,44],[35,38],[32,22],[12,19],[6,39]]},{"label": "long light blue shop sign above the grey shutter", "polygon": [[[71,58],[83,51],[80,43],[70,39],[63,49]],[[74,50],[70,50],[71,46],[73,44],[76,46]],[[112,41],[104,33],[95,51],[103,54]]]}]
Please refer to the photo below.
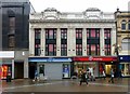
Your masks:
[{"label": "long light blue shop sign above the grey shutter", "polygon": [[52,63],[52,62],[72,62],[70,57],[29,57],[29,62],[47,62],[47,63]]}]

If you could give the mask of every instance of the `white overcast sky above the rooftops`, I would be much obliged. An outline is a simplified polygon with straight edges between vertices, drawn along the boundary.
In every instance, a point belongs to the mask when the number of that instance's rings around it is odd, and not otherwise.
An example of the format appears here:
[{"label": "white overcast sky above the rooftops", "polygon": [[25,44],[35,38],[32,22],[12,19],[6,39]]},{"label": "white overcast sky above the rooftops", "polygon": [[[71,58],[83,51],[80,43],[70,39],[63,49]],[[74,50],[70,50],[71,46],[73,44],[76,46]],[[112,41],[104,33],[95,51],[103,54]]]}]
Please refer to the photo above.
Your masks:
[{"label": "white overcast sky above the rooftops", "polygon": [[30,0],[36,12],[55,8],[60,12],[83,12],[88,8],[98,8],[103,12],[128,11],[130,0]]}]

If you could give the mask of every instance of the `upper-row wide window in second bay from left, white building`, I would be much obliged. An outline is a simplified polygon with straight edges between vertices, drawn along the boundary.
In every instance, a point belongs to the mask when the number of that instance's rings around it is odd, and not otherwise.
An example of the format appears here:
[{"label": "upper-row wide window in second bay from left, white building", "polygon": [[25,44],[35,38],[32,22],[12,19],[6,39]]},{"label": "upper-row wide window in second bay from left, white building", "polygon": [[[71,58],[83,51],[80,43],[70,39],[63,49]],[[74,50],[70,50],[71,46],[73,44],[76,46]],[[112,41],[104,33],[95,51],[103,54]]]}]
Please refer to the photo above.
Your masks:
[{"label": "upper-row wide window in second bay from left, white building", "polygon": [[46,39],[56,39],[56,29],[46,29]]}]

